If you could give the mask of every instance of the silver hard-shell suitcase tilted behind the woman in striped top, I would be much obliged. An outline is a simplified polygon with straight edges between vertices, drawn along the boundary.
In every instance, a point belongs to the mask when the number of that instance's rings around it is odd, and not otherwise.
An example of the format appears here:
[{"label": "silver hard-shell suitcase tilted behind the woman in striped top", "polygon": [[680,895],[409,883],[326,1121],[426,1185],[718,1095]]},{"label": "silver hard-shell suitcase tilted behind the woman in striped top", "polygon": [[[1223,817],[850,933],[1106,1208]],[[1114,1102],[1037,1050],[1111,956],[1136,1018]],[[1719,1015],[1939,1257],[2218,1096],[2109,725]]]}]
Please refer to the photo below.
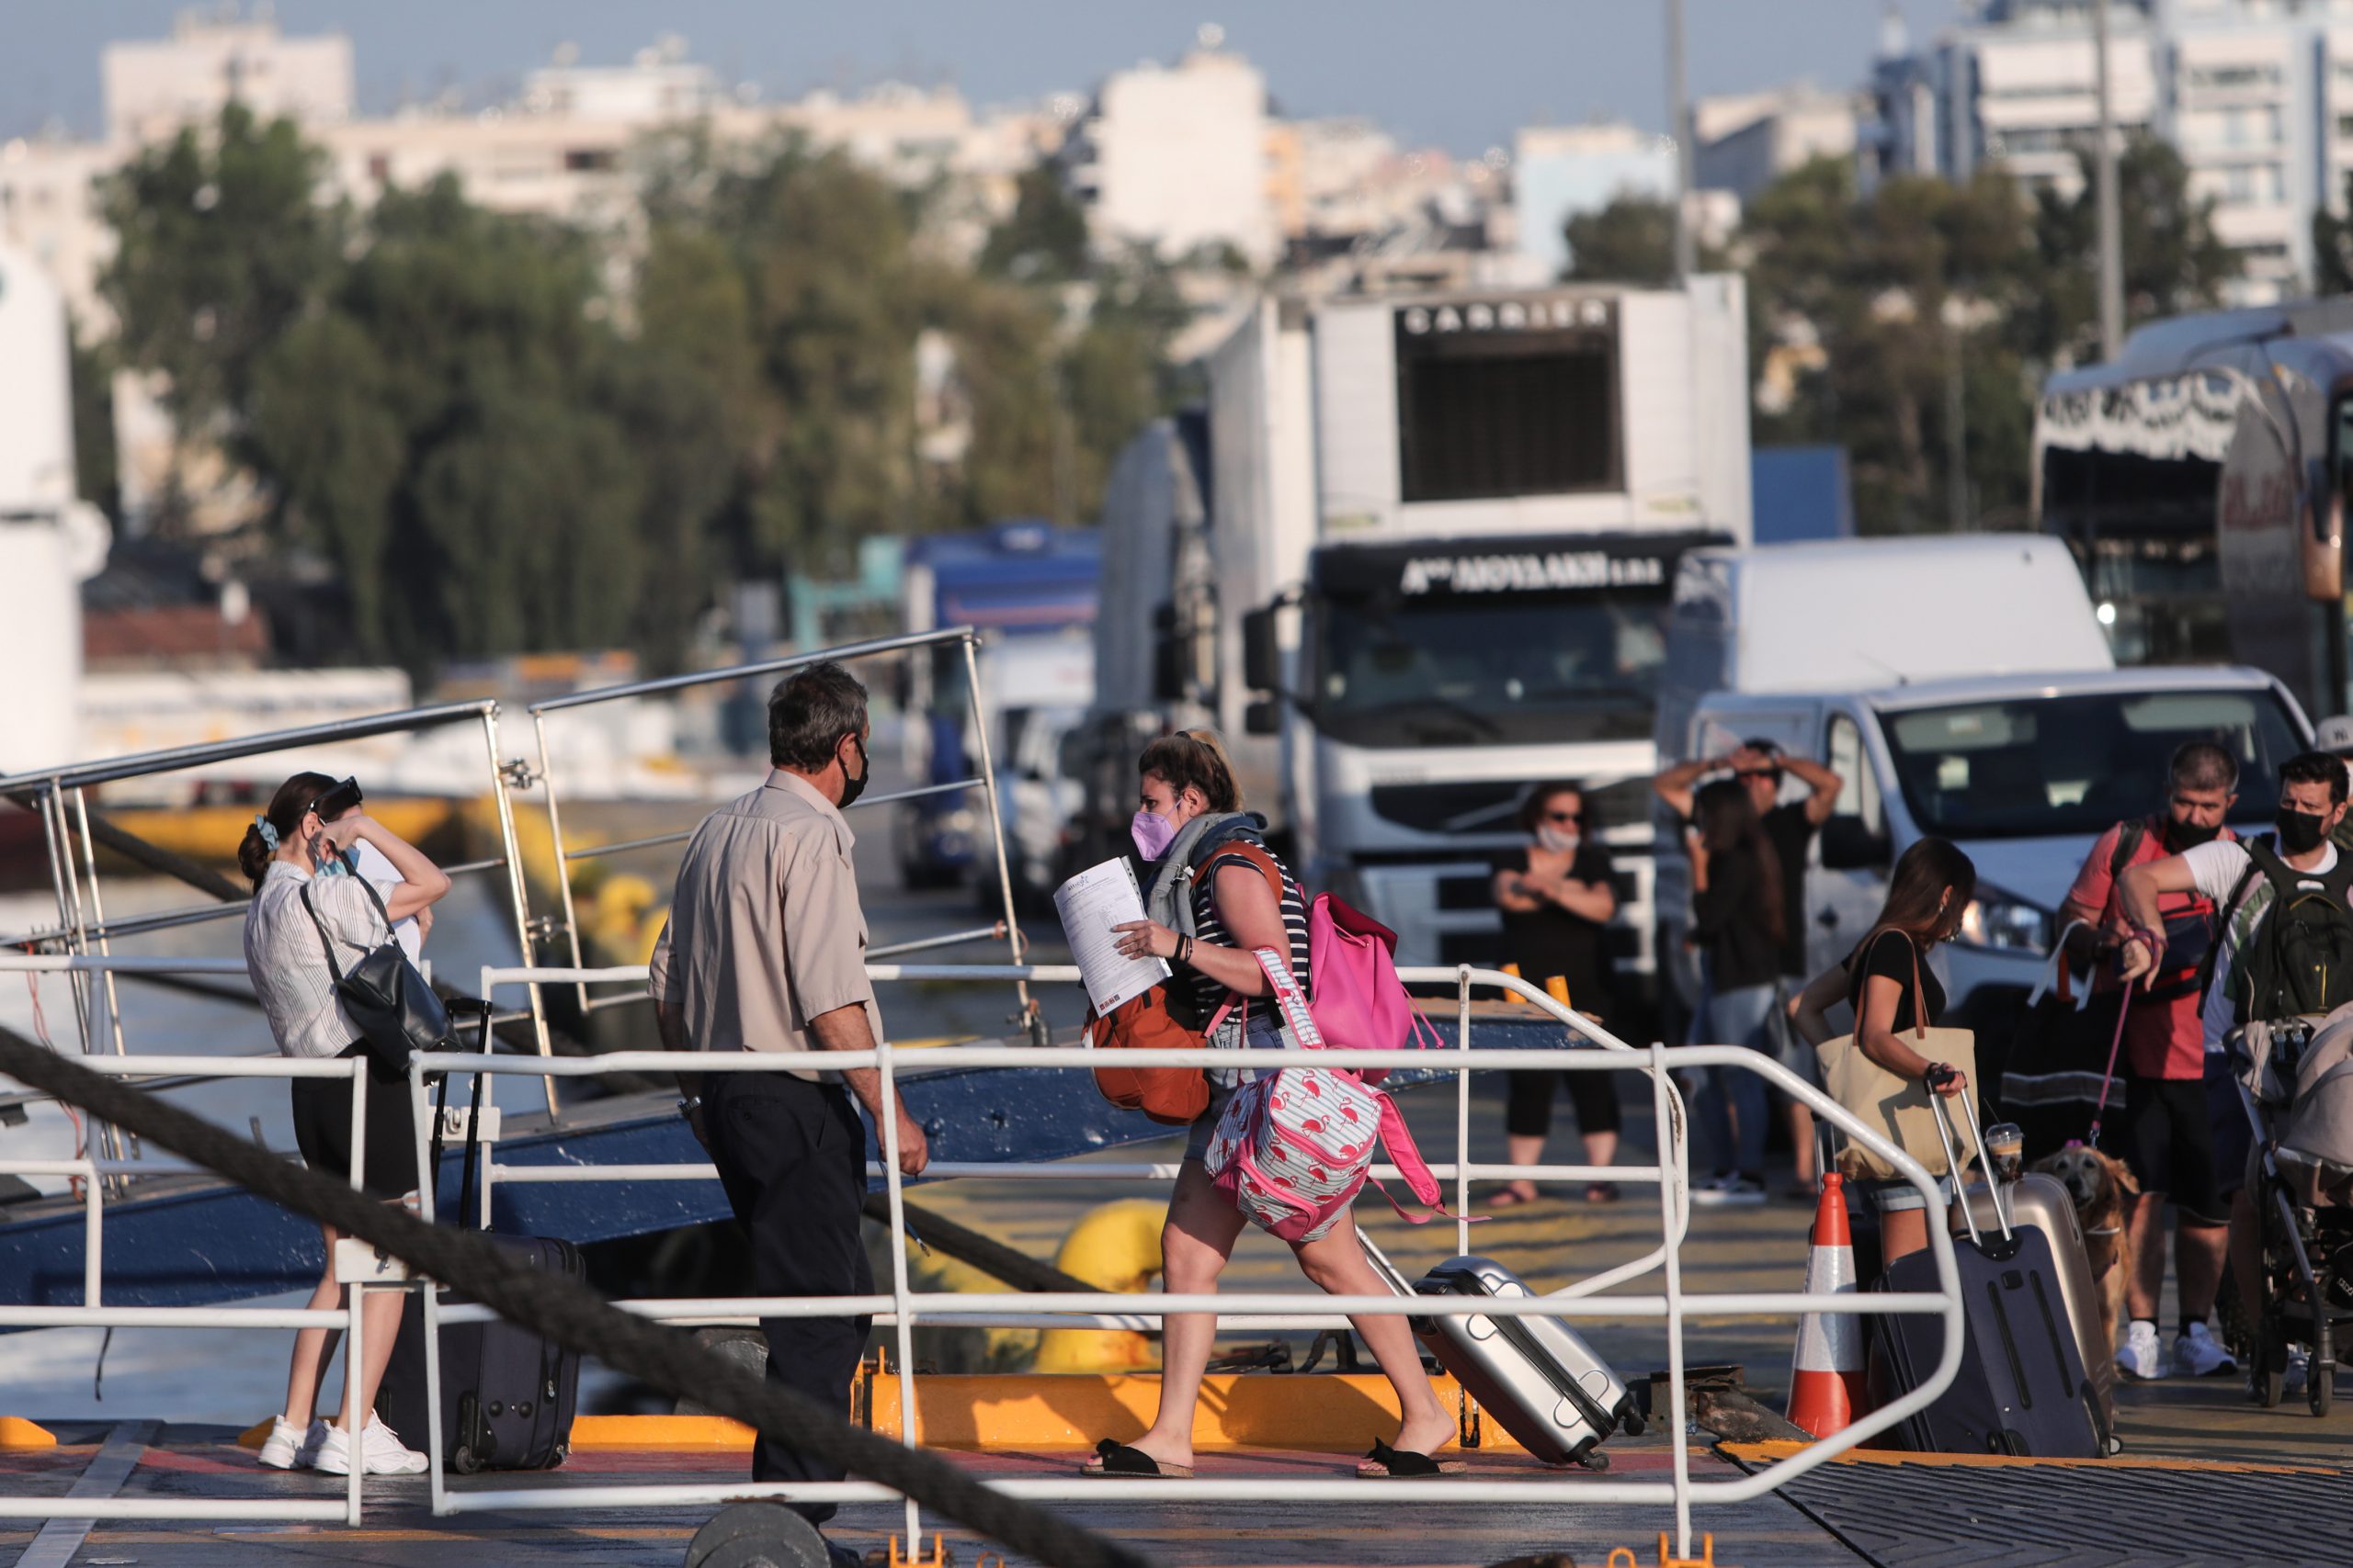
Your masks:
[{"label": "silver hard-shell suitcase tilted behind the woman in striped top", "polygon": [[[1414,1284],[1417,1295],[1518,1300],[1534,1295],[1492,1258],[1447,1258]],[[1609,1469],[1602,1441],[1642,1429],[1633,1396],[1609,1363],[1555,1316],[1435,1316],[1414,1333],[1482,1410],[1546,1465]]]}]

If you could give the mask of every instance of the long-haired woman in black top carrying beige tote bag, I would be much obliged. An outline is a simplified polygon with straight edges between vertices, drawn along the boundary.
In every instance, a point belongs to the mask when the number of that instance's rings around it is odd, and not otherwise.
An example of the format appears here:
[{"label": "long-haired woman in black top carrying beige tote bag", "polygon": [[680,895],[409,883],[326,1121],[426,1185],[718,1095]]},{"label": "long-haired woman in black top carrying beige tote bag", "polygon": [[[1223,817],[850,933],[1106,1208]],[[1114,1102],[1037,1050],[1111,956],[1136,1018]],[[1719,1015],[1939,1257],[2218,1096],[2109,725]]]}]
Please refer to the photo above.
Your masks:
[{"label": "long-haired woman in black top carrying beige tote bag", "polygon": [[[1854,1044],[1864,1056],[1897,1077],[1929,1081],[1939,1093],[1962,1093],[1969,1074],[1927,1060],[1913,1051],[1906,1032],[1934,1027],[1944,1013],[1944,983],[1927,966],[1927,954],[1937,943],[1953,940],[1974,896],[1977,865],[1958,844],[1920,839],[1906,849],[1887,879],[1887,900],[1871,931],[1842,964],[1814,976],[1791,1009],[1798,1034],[1814,1046],[1833,1039],[1838,1030],[1831,1027],[1831,1009],[1847,1001],[1854,1006]],[[1932,1079],[1937,1070],[1946,1070],[1941,1081]],[[1951,1180],[1944,1187],[1951,1199]],[[1880,1182],[1873,1201],[1880,1208],[1880,1253],[1887,1262],[1927,1246],[1927,1204],[1911,1182]]]}]

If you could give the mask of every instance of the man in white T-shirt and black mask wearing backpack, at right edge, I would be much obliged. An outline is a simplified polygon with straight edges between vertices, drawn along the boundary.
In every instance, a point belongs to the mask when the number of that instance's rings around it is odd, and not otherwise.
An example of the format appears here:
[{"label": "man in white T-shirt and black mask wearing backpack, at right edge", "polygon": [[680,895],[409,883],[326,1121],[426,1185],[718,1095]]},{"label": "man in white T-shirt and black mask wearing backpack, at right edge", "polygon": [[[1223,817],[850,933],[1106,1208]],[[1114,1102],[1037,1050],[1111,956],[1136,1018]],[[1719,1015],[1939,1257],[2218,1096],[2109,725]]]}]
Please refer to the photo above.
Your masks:
[{"label": "man in white T-shirt and black mask wearing backpack, at right edge", "polygon": [[[2322,900],[2294,900],[2289,922],[2299,926],[2304,922],[2339,919],[2353,924],[2353,914],[2346,912],[2353,858],[2341,863],[2337,846],[2329,844],[2329,832],[2334,832],[2344,816],[2344,764],[2327,752],[2299,752],[2280,764],[2280,809],[2273,816],[2275,837],[2247,844],[2231,839],[2198,844],[2186,853],[2134,865],[2118,879],[2125,940],[2120,971],[2127,985],[2160,976],[2165,954],[2162,898],[2167,893],[2200,893],[2212,898],[2221,910],[2217,952],[2209,959],[2212,980],[2200,1001],[2200,1032],[2207,1063],[2207,1117],[2217,1133],[2214,1164],[2224,1192],[2242,1182],[2247,1147],[2247,1124],[2235,1105],[2235,1095],[2217,1091],[2217,1084],[2228,1086],[2224,1037],[2249,1018],[2327,1011],[2334,1001],[2329,997],[2294,994],[2301,987],[2287,985],[2287,980],[2297,980],[2297,976],[2282,978],[2278,961],[2271,957],[2275,950],[2266,943],[2266,936],[2273,910],[2280,905],[2278,886],[2282,882],[2297,891],[2313,889],[2322,893]],[[2329,905],[2337,907],[2332,910]],[[2341,987],[2341,980],[2337,985]],[[2134,1006],[2144,1001],[2144,994],[2141,990],[2134,992]],[[2177,1114],[2188,1117],[2191,1107],[2184,1103]],[[2191,1218],[2188,1201],[2179,1192],[2174,1199],[2181,1204],[2184,1218]],[[2233,1246],[2242,1253],[2252,1251],[2249,1220],[2245,1197],[2240,1197],[2231,1213],[2231,1229]],[[2247,1265],[2242,1281],[2252,1284],[2254,1258],[2242,1258],[2242,1262]],[[2188,1298],[2186,1279],[2181,1295],[2184,1312],[2195,1307]],[[2151,1312],[2155,1309],[2153,1300],[2146,1305]],[[2141,1302],[2134,1305],[2134,1316],[2139,1316],[2139,1307]],[[2134,1328],[2139,1326],[2134,1324]],[[2129,1349],[2132,1340],[2127,1338],[2127,1347],[2118,1352],[2120,1363]],[[2195,1333],[2191,1324],[2184,1324],[2184,1335],[2174,1345],[2174,1361],[2179,1371],[2193,1373],[2217,1373],[2231,1366],[2228,1356],[2207,1338],[2202,1319],[2195,1324]],[[2294,1368],[2289,1371],[2294,1373]]]}]

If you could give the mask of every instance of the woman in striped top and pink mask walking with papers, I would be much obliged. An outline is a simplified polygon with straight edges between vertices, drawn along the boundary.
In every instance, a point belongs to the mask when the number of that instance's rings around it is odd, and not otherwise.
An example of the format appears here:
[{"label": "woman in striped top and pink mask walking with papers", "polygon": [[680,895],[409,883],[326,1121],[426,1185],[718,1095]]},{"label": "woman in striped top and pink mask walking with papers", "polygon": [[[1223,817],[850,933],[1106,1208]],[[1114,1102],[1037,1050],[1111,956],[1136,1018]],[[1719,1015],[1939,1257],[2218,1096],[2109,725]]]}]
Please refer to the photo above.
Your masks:
[{"label": "woman in striped top and pink mask walking with papers", "polygon": [[[1141,809],[1134,820],[1136,851],[1148,860],[1151,898],[1146,910],[1174,912],[1172,898],[1188,898],[1195,936],[1181,936],[1165,919],[1139,919],[1118,926],[1120,950],[1129,957],[1162,957],[1186,983],[1184,997],[1207,1023],[1233,997],[1235,1009],[1209,1037],[1212,1046],[1280,1046],[1282,1034],[1273,1004],[1252,1006],[1268,994],[1259,969],[1259,947],[1289,954],[1299,987],[1308,985],[1308,914],[1299,884],[1271,853],[1282,882],[1278,898],[1254,858],[1219,860],[1207,877],[1188,877],[1205,853],[1226,842],[1245,842],[1264,851],[1264,818],[1242,811],[1242,792],[1233,783],[1233,764],[1212,731],[1195,729],[1162,736],[1136,759]],[[1176,987],[1172,987],[1176,990]],[[1242,1234],[1242,1211],[1209,1185],[1205,1154],[1217,1119],[1247,1067],[1209,1072],[1209,1110],[1191,1126],[1169,1213],[1160,1227],[1162,1284],[1172,1295],[1207,1295],[1233,1255]],[[1355,1225],[1337,1225],[1318,1241],[1294,1241],[1299,1269],[1332,1295],[1386,1295],[1388,1284],[1372,1269]],[[1358,1462],[1360,1476],[1431,1476],[1461,1469],[1431,1455],[1454,1439],[1454,1418],[1421,1371],[1421,1352],[1402,1316],[1351,1319],[1381,1371],[1398,1389],[1405,1420],[1395,1446],[1374,1441]],[[1160,1340],[1160,1413],[1151,1432],[1134,1443],[1104,1439],[1087,1460],[1092,1476],[1191,1476],[1193,1406],[1217,1340],[1217,1316],[1207,1312],[1172,1312]]]}]

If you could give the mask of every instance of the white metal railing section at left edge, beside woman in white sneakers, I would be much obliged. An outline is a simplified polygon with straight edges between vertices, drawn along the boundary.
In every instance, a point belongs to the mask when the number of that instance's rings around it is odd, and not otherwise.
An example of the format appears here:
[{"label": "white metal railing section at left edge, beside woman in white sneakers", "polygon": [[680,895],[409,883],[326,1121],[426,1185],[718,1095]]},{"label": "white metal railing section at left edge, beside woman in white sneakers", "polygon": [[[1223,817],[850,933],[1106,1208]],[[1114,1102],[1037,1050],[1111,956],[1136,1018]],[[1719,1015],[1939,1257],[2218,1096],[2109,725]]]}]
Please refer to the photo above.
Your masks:
[{"label": "white metal railing section at left edge, beside woman in white sneakers", "polygon": [[[186,959],[181,959],[186,964]],[[122,959],[115,959],[122,964]],[[367,1058],[216,1058],[216,1056],[94,1056],[82,1063],[92,1072],[118,1079],[184,1077],[207,1079],[348,1079],[351,1081],[351,1185],[360,1187],[367,1171]],[[346,1279],[351,1293],[341,1307],[108,1307],[104,1298],[106,1199],[101,1180],[129,1161],[106,1159],[0,1159],[7,1175],[66,1175],[80,1185],[82,1199],[82,1300],[71,1307],[0,1307],[0,1328],[341,1328],[344,1331],[344,1408],[360,1415],[360,1368],[365,1293],[358,1276]],[[348,1246],[348,1244],[346,1244]],[[329,1253],[327,1267],[339,1258]],[[376,1286],[391,1288],[391,1286]],[[353,1439],[360,1434],[353,1432]],[[0,1497],[0,1519],[311,1519],[360,1523],[360,1486],[367,1465],[353,1450],[344,1500],[320,1497]]]}]

